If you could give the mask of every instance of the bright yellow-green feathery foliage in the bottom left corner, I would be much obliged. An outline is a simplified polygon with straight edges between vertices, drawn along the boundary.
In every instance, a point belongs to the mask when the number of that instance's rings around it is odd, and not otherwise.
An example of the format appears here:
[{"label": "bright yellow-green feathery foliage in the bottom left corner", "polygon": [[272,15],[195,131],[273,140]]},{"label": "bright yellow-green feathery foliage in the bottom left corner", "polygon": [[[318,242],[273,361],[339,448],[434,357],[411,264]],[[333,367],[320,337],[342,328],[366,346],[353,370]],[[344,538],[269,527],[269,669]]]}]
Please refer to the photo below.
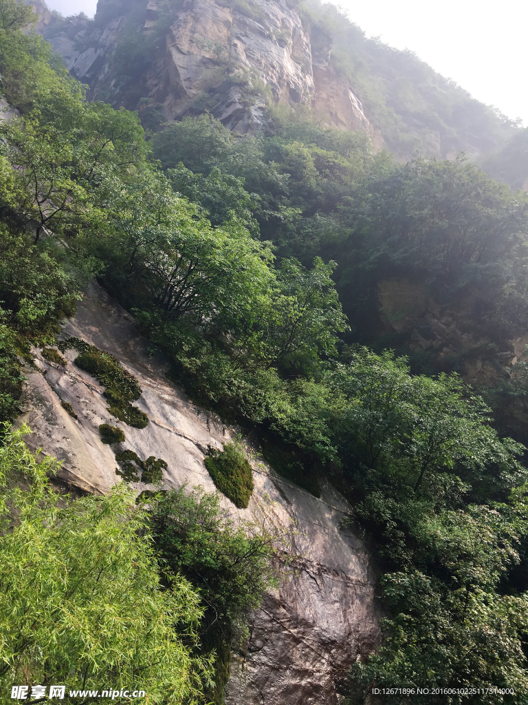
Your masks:
[{"label": "bright yellow-green feathery foliage in the bottom left corner", "polygon": [[133,685],[152,702],[198,702],[210,678],[192,653],[198,594],[166,570],[162,586],[144,508],[125,484],[65,501],[46,479],[58,463],[37,462],[23,442],[28,431],[7,431],[0,447],[3,691],[13,682],[67,692]]}]

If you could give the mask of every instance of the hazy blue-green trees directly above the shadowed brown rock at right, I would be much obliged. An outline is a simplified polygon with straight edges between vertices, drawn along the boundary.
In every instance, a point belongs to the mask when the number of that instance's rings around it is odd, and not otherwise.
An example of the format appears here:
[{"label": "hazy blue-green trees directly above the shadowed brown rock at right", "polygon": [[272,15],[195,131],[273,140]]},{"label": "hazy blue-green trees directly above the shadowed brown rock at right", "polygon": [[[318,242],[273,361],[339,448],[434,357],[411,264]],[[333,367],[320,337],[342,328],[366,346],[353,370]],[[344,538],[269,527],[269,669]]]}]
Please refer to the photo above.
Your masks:
[{"label": "hazy blue-green trees directly above the shadowed brown rock at right", "polygon": [[377,285],[398,277],[425,283],[434,300],[455,307],[460,296],[479,292],[472,328],[512,336],[528,320],[524,197],[463,158],[417,159],[383,171],[367,174],[339,206],[348,232],[334,257],[352,324],[372,331]]}]

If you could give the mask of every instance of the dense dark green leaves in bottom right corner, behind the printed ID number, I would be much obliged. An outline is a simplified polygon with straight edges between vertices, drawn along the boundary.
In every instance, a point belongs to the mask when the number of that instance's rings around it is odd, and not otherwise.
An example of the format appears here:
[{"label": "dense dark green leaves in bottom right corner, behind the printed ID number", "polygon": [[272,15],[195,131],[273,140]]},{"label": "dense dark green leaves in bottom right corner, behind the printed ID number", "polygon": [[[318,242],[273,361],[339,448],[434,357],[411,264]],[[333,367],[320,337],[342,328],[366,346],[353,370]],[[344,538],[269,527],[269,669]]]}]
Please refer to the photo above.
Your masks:
[{"label": "dense dark green leaves in bottom right corner, behind the printed ID number", "polygon": [[[527,599],[475,589],[449,591],[421,572],[393,573],[383,578],[384,593],[394,617],[384,620],[386,642],[353,676],[365,686],[423,688],[413,700],[429,705],[438,700],[434,687],[455,689],[451,704],[465,701],[456,689],[481,688],[478,702],[522,701],[528,693],[526,660],[519,627],[525,623]],[[501,694],[515,689],[515,697]],[[386,698],[395,704],[399,697]]]}]

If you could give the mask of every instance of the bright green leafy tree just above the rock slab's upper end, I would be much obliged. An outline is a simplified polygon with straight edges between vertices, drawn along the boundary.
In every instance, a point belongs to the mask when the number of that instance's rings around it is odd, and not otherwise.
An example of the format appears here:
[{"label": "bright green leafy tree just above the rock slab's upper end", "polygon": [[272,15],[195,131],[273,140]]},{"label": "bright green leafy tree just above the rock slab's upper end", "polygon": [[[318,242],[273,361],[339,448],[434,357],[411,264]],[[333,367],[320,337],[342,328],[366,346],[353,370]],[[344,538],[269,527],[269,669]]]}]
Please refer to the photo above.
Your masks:
[{"label": "bright green leafy tree just above the rock slab's upper end", "polygon": [[255,301],[273,281],[266,243],[253,240],[235,219],[213,228],[175,196],[162,174],[145,172],[122,189],[113,209],[101,257],[116,263],[132,295],[141,284],[137,298],[147,307],[224,335],[251,319]]}]

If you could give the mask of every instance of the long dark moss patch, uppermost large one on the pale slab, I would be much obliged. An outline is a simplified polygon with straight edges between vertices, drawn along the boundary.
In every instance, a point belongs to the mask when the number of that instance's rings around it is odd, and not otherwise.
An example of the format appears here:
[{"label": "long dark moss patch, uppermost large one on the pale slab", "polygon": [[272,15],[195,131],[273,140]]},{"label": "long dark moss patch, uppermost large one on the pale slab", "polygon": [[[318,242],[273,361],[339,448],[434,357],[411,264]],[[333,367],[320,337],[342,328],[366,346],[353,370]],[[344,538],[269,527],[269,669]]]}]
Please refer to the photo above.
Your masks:
[{"label": "long dark moss patch, uppermost large one on the pale slab", "polygon": [[142,388],[130,372],[122,369],[113,355],[79,338],[68,338],[61,341],[58,347],[63,352],[74,348],[80,353],[75,359],[75,364],[85,372],[93,374],[104,385],[104,396],[108,399],[108,411],[111,415],[128,426],[137,429],[146,427],[149,417],[130,403],[142,396]]}]

